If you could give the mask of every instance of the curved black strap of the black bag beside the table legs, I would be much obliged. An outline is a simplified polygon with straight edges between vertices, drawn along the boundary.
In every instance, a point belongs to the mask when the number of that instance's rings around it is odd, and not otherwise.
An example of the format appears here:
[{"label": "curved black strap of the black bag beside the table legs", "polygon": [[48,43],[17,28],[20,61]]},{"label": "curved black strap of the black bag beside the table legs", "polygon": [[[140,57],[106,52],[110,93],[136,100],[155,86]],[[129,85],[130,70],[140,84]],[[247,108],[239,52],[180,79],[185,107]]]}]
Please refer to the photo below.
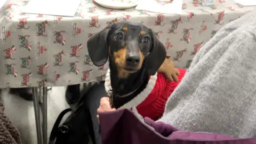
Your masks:
[{"label": "curved black strap of the black bag beside the table legs", "polygon": [[61,122],[63,116],[65,116],[69,111],[73,111],[73,109],[67,108],[67,109],[61,111],[60,115],[58,116],[56,122],[54,123],[54,125],[52,127],[52,131],[51,131],[50,138],[49,138],[49,144],[54,144],[55,139],[57,137],[58,130],[59,130],[60,122]]}]

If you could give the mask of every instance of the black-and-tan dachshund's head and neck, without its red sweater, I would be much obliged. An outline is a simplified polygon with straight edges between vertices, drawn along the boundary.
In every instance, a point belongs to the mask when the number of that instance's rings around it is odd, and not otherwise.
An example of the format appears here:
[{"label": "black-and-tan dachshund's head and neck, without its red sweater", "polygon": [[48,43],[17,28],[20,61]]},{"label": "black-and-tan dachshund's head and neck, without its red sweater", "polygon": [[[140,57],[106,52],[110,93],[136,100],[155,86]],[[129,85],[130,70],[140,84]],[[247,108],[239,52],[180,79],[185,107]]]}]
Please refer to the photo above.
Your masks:
[{"label": "black-and-tan dachshund's head and neck, without its red sweater", "polygon": [[[115,108],[121,108],[145,90],[166,58],[165,46],[153,30],[141,23],[112,23],[91,36],[87,48],[95,66],[109,60],[109,96],[113,96],[110,105]],[[105,88],[106,83],[107,80]]]}]

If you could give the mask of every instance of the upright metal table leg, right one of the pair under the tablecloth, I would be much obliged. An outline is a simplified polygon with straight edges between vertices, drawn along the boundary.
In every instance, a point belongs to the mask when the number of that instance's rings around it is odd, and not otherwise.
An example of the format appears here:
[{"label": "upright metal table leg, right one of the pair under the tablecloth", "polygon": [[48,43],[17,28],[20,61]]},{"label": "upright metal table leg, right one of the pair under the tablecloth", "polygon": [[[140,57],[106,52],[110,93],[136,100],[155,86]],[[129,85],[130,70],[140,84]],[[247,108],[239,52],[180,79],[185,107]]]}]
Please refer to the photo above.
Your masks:
[{"label": "upright metal table leg, right one of the pair under the tablecloth", "polygon": [[47,144],[47,87],[43,87],[43,144]]}]

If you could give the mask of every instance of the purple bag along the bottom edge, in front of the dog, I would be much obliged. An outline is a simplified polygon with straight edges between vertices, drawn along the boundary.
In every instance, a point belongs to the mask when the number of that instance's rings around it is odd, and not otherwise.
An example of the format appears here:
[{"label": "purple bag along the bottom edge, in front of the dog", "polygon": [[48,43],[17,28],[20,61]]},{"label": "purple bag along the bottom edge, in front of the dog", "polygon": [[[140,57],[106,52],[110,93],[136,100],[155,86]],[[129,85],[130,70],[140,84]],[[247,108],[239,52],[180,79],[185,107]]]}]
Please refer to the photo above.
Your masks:
[{"label": "purple bag along the bottom edge, in front of the dog", "polygon": [[150,118],[140,119],[133,111],[118,109],[100,113],[102,144],[255,144],[256,138],[238,139],[207,132],[185,132]]}]

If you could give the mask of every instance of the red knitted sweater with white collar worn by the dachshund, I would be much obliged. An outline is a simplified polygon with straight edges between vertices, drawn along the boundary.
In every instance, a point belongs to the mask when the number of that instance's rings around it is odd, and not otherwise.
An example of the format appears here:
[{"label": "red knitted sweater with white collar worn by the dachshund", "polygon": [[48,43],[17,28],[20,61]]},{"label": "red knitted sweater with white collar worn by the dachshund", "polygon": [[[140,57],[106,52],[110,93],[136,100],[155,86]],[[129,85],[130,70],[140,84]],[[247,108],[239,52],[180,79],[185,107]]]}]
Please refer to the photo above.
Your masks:
[{"label": "red knitted sweater with white collar worn by the dachshund", "polygon": [[[178,76],[179,82],[170,82],[166,79],[164,74],[157,73],[154,76],[150,76],[148,85],[137,97],[131,101],[125,103],[120,108],[136,107],[139,114],[143,117],[149,117],[153,120],[157,120],[164,113],[165,103],[170,97],[174,89],[180,83],[182,77],[185,75],[185,69],[178,69],[180,75]],[[106,74],[105,89],[108,91],[111,89],[110,83],[110,71]]]}]

